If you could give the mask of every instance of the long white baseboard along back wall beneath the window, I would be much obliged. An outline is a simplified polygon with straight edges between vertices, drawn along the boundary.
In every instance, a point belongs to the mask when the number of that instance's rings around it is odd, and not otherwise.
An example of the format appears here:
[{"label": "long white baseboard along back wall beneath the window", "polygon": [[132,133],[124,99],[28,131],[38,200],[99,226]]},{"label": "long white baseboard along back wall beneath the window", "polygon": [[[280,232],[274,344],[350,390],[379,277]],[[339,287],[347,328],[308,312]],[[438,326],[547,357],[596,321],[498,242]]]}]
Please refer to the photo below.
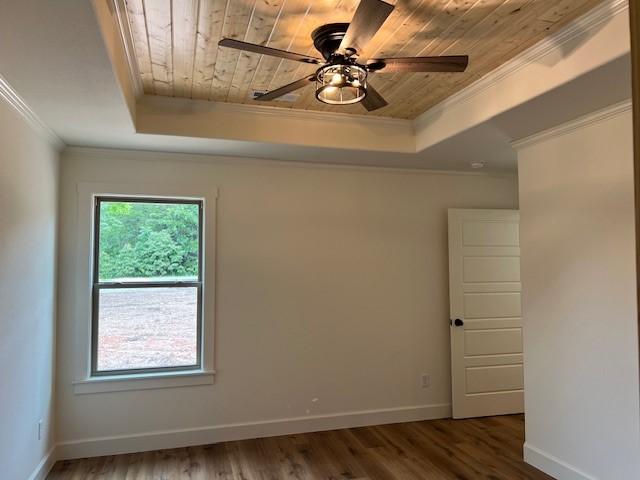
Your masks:
[{"label": "long white baseboard along back wall beneath the window", "polygon": [[434,420],[450,416],[450,404],[418,405],[251,423],[233,423],[184,430],[164,430],[62,442],[57,445],[56,456],[60,460],[98,457],[339,428]]}]

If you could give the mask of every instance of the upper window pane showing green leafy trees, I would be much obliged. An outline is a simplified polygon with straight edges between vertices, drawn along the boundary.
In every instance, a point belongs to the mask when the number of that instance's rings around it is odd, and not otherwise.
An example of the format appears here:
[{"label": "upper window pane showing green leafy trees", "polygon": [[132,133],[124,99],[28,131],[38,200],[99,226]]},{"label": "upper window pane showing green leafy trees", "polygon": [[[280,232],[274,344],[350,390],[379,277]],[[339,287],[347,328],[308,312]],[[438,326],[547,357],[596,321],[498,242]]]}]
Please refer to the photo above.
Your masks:
[{"label": "upper window pane showing green leafy trees", "polygon": [[199,205],[100,203],[99,280],[197,280]]}]

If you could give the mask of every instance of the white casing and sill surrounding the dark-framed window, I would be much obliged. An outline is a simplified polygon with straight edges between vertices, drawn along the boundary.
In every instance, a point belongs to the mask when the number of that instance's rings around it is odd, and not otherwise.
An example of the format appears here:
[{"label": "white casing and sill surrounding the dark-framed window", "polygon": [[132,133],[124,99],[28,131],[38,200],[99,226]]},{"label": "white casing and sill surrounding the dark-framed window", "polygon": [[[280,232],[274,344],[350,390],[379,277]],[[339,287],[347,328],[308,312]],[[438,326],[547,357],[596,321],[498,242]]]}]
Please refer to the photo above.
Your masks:
[{"label": "white casing and sill surrounding the dark-framed window", "polygon": [[[76,259],[74,392],[77,394],[126,390],[145,390],[193,385],[210,385],[214,381],[215,323],[215,238],[218,191],[210,187],[157,184],[79,183],[77,185],[77,235],[73,246]],[[118,375],[92,375],[92,290],[93,248],[96,197],[141,197],[201,200],[202,218],[202,344],[198,369],[141,372]]]}]

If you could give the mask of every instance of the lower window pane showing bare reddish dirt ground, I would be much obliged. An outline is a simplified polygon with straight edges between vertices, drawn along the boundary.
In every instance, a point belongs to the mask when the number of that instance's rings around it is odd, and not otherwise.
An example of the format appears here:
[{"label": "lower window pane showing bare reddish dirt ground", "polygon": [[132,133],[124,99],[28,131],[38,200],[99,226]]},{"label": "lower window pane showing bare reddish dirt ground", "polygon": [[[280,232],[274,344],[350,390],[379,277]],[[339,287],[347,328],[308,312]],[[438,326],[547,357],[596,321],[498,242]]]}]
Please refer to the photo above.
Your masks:
[{"label": "lower window pane showing bare reddish dirt ground", "polygon": [[97,370],[197,363],[198,289],[101,289]]}]

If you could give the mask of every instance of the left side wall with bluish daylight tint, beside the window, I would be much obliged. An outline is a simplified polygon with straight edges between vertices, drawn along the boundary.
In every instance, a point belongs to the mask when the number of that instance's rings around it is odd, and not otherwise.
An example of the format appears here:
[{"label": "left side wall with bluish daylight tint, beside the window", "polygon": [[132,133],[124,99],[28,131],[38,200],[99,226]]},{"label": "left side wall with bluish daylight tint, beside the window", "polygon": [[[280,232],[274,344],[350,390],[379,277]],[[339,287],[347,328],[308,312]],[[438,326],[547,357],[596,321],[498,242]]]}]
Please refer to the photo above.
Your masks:
[{"label": "left side wall with bluish daylight tint, beside the window", "polygon": [[57,151],[0,99],[0,476],[7,479],[31,475],[54,441],[57,180]]}]

